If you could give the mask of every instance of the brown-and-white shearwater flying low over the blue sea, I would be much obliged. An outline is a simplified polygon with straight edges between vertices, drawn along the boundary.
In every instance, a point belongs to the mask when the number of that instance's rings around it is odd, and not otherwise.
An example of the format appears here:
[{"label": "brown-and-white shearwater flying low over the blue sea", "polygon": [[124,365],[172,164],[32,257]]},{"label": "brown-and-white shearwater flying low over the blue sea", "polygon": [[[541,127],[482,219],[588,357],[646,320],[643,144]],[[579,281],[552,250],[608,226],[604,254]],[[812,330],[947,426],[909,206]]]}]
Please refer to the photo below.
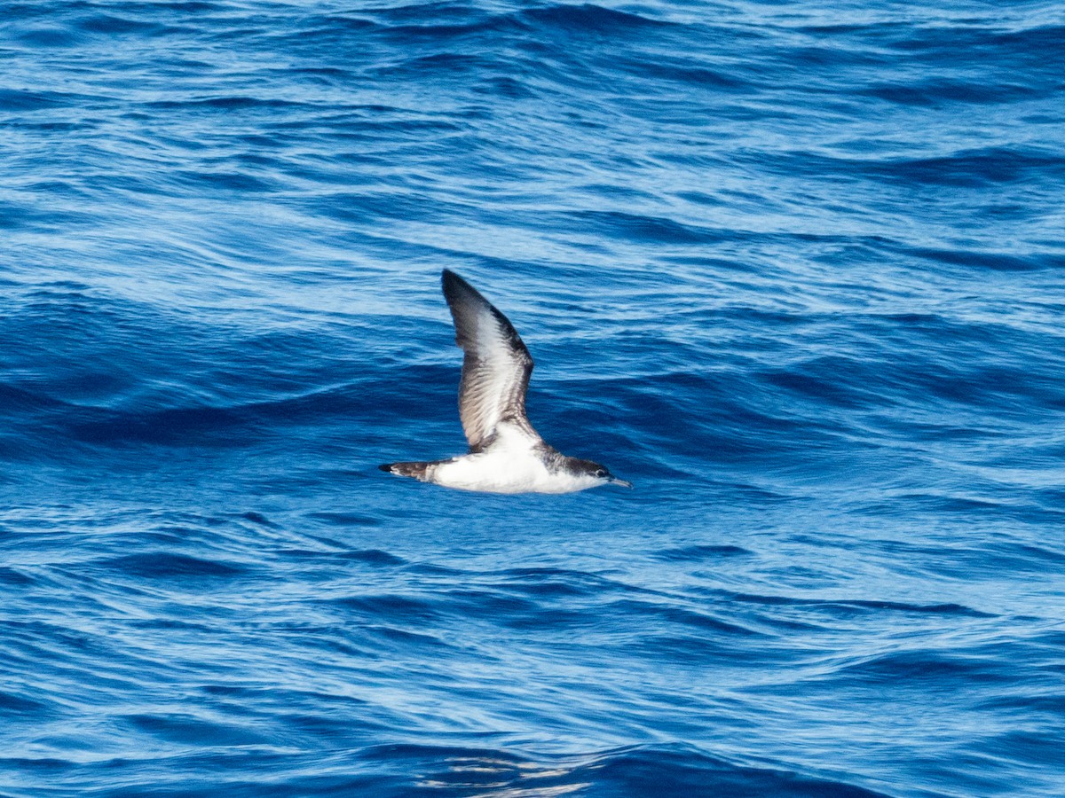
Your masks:
[{"label": "brown-and-white shearwater flying low over the blue sea", "polygon": [[532,359],[518,331],[476,288],[444,269],[444,298],[455,343],[465,353],[459,416],[470,451],[428,463],[387,463],[382,471],[462,491],[568,494],[632,483],[599,463],[568,458],[548,446],[525,415]]}]

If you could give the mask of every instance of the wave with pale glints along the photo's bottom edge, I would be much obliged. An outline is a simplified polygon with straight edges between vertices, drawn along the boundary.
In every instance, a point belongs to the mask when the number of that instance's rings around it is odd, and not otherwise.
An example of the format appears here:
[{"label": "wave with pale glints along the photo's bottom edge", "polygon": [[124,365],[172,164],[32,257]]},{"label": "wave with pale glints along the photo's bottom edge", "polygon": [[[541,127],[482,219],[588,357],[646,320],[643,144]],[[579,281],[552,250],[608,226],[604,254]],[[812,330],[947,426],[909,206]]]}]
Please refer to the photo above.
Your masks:
[{"label": "wave with pale glints along the photo's bottom edge", "polygon": [[[380,745],[342,755],[311,758],[266,745],[247,727],[207,718],[130,715],[128,724],[169,742],[204,741],[228,746],[229,755],[191,754],[173,763],[195,772],[177,780],[136,760],[106,761],[121,787],[100,795],[321,795],[375,796],[547,796],[590,792],[604,796],[731,795],[782,798],[875,798],[874,792],[839,778],[797,772],[772,764],[735,764],[685,746],[629,746],[589,757],[531,758],[490,747],[411,744]],[[243,752],[239,752],[243,751]],[[50,772],[59,784],[73,783],[76,765],[63,760],[5,758],[0,763]],[[249,779],[239,774],[258,770]]]}]

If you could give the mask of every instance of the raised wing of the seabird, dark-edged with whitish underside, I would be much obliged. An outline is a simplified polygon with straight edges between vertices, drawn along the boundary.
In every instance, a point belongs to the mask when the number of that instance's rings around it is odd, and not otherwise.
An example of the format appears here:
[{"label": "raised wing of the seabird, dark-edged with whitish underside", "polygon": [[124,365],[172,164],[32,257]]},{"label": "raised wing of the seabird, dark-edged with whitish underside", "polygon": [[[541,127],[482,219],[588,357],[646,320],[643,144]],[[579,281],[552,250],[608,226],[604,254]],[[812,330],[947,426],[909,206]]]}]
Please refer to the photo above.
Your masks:
[{"label": "raised wing of the seabird, dark-edged with whitish underside", "polygon": [[499,421],[510,421],[539,439],[525,415],[532,358],[518,331],[454,271],[444,269],[441,282],[455,319],[455,343],[465,352],[459,416],[470,451],[488,446]]}]

